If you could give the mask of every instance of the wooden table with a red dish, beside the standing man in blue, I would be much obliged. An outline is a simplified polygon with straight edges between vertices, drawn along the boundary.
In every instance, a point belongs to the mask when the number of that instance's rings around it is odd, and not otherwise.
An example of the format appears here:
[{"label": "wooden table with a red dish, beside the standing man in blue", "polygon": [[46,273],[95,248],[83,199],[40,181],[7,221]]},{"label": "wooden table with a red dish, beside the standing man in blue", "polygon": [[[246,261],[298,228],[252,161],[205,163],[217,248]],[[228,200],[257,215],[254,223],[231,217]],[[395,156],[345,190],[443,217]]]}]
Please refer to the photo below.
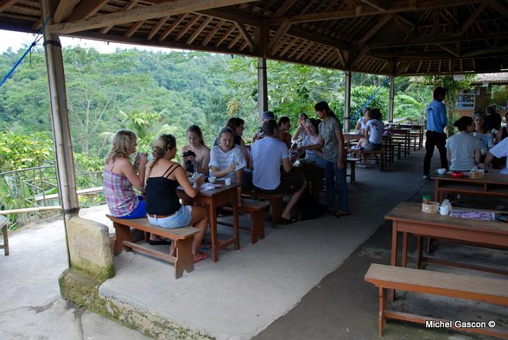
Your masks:
[{"label": "wooden table with a red dish, beside the standing man in blue", "polygon": [[483,178],[461,178],[451,175],[433,175],[435,181],[434,200],[442,202],[444,195],[464,194],[482,195],[508,198],[508,176],[500,174],[485,174]]}]

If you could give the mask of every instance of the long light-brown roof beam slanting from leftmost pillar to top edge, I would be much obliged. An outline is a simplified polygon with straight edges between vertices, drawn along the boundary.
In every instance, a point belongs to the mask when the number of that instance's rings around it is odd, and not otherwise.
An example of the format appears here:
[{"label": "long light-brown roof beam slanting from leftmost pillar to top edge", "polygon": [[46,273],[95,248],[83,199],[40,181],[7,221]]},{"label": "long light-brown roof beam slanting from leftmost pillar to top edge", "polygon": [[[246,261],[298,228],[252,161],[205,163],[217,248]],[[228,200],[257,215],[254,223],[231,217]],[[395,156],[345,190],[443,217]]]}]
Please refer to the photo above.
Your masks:
[{"label": "long light-brown roof beam slanting from leftmost pillar to top edge", "polygon": [[[89,1],[90,3],[92,2],[92,0]],[[89,1],[86,1],[86,3],[88,4]],[[49,26],[49,29],[52,33],[70,34],[83,30],[103,28],[109,25],[133,23],[140,20],[161,18],[163,16],[173,16],[176,14],[189,13],[194,11],[204,11],[205,9],[221,6],[231,6],[253,1],[258,0],[175,0],[171,2],[164,2],[162,4],[135,8],[128,11],[119,11],[115,13],[104,14],[102,16],[94,16],[85,20],[55,24]]]}]

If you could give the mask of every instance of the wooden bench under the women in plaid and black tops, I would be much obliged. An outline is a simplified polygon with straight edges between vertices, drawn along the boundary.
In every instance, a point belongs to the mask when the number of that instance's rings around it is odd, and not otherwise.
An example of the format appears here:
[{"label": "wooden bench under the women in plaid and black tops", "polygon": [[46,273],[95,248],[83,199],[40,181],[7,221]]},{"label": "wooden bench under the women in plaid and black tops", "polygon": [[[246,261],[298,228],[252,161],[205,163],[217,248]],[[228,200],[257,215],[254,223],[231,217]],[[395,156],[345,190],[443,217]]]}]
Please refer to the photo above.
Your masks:
[{"label": "wooden bench under the women in plaid and black tops", "polygon": [[[111,221],[116,233],[114,241],[114,255],[122,252],[123,246],[130,250],[138,250],[140,253],[157,257],[160,260],[171,262],[175,266],[175,279],[183,275],[183,270],[190,273],[194,270],[194,257],[192,253],[192,243],[195,233],[199,229],[193,226],[184,226],[183,228],[164,229],[159,226],[152,226],[147,218],[142,219],[119,219],[106,215]],[[157,250],[143,247],[131,240],[131,228],[139,229],[145,233],[153,233],[157,236],[170,238],[176,248],[176,256],[162,253]],[[145,234],[146,235],[146,234]],[[149,238],[147,236],[146,238]]]}]

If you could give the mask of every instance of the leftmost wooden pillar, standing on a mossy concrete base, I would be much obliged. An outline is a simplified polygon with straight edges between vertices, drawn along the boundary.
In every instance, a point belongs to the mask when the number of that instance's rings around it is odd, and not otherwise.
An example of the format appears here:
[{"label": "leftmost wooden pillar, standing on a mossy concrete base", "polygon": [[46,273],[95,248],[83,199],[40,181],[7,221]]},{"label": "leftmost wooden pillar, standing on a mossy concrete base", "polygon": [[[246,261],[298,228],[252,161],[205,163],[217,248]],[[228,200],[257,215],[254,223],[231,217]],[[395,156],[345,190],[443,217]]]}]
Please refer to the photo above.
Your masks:
[{"label": "leftmost wooden pillar, standing on a mossy concrete base", "polygon": [[[58,4],[58,1],[41,0],[43,22],[49,16],[52,16],[56,4]],[[49,20],[48,24],[51,24],[52,21],[52,19]],[[51,102],[56,154],[56,176],[63,215],[67,219],[73,214],[78,214],[79,203],[75,186],[73,149],[71,130],[68,122],[66,83],[63,73],[60,37],[49,32],[48,26],[44,29],[44,51],[46,54],[49,99]]]}]

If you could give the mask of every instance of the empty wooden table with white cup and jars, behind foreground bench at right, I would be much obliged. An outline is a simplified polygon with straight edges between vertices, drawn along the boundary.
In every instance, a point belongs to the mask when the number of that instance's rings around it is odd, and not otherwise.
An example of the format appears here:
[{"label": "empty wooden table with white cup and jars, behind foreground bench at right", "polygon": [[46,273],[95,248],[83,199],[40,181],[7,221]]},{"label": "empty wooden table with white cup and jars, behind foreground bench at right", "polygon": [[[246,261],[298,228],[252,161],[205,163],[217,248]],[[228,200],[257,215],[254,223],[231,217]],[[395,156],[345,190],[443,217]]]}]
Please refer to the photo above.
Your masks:
[{"label": "empty wooden table with white cup and jars, behind foreground bench at right", "polygon": [[[460,208],[461,210],[468,210]],[[470,209],[471,210],[471,209]],[[423,260],[437,262],[442,265],[453,265],[468,269],[508,274],[508,272],[488,267],[466,265],[457,262],[442,261],[422,257],[423,237],[439,238],[452,242],[468,243],[481,247],[502,248],[508,250],[508,224],[500,221],[483,221],[480,219],[463,219],[440,214],[421,212],[421,203],[402,202],[386,214],[385,219],[392,221],[392,261],[397,265],[397,241],[399,232],[402,233],[401,266],[406,267],[408,234],[418,236],[418,260],[420,268]]]}]

